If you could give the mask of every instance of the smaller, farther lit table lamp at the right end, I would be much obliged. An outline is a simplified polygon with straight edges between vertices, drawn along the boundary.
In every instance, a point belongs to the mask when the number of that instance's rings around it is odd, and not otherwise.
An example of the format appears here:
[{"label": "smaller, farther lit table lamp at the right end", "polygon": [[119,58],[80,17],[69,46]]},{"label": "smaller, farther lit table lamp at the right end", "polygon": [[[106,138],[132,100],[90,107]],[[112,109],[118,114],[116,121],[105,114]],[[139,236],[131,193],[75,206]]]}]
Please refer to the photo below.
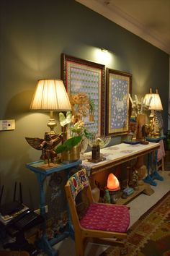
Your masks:
[{"label": "smaller, farther lit table lamp at the right end", "polygon": [[156,93],[152,93],[150,88],[150,93],[146,94],[144,97],[144,102],[146,105],[149,105],[149,109],[151,110],[151,114],[149,116],[150,123],[149,123],[149,137],[156,137],[154,133],[154,111],[161,111],[163,110],[161,98],[158,94],[158,90],[156,89]]}]

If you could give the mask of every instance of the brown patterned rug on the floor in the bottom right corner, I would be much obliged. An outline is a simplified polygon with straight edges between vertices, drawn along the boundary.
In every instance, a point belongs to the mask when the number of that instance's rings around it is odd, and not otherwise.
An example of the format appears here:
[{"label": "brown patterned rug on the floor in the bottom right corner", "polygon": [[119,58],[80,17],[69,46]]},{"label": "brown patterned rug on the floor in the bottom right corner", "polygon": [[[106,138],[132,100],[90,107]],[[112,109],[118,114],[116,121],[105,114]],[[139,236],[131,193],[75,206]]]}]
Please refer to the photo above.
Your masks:
[{"label": "brown patterned rug on the floor in the bottom right corner", "polygon": [[170,191],[130,227],[125,247],[100,256],[170,256]]}]

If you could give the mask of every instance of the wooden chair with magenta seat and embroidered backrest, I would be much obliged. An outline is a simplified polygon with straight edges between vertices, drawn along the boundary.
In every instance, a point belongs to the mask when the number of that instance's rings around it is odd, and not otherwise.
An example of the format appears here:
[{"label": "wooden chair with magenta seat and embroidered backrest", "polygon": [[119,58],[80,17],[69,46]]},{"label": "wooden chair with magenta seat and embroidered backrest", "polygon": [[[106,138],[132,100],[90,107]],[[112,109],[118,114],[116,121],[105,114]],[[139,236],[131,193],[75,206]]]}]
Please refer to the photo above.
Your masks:
[{"label": "wooden chair with magenta seat and embroidered backrest", "polygon": [[[76,256],[84,256],[88,240],[102,244],[123,244],[121,240],[127,237],[130,223],[127,206],[94,202],[85,169],[81,169],[68,179],[65,190],[73,223]],[[89,206],[79,219],[76,196],[84,190]]]}]

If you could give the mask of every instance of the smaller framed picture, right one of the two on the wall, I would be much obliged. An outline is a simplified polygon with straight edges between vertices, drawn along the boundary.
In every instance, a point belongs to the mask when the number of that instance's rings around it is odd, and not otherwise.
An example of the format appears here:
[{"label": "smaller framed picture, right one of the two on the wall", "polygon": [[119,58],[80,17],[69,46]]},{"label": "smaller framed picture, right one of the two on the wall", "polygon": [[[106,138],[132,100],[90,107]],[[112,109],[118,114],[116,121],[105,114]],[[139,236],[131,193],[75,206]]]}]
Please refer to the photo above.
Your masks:
[{"label": "smaller framed picture, right one of the two on the wall", "polygon": [[128,95],[132,90],[132,74],[107,69],[106,134],[128,134],[130,104]]}]

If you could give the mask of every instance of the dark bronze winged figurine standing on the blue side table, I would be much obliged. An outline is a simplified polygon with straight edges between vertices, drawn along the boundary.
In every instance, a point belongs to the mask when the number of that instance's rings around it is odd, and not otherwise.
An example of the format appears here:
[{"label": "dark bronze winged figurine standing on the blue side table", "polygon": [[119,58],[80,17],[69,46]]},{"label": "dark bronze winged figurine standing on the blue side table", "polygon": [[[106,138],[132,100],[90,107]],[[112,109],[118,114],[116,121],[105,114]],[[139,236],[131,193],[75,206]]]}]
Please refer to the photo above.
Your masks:
[{"label": "dark bronze winged figurine standing on the blue side table", "polygon": [[55,163],[57,154],[53,148],[61,142],[62,135],[51,135],[50,132],[45,132],[44,139],[30,137],[25,137],[25,139],[32,148],[42,150],[40,159],[48,160],[48,165],[50,164],[50,161]]}]

